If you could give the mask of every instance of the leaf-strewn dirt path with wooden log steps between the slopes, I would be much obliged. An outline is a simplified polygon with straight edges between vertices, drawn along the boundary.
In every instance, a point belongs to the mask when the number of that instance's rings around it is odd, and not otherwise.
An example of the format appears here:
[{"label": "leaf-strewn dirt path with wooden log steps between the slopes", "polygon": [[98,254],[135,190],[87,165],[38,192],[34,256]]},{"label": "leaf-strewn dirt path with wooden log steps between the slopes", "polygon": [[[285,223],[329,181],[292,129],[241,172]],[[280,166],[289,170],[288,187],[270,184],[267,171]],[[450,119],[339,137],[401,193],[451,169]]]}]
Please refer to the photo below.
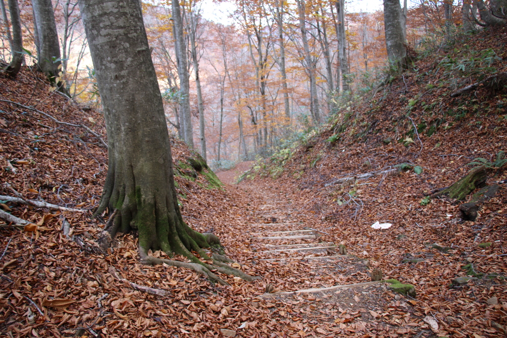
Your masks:
[{"label": "leaf-strewn dirt path with wooden log steps between the slopes", "polygon": [[245,230],[253,258],[266,266],[261,298],[277,305],[272,316],[286,322],[287,336],[431,334],[410,297],[370,281],[368,260],[340,252],[339,238],[316,229],[314,217],[294,206],[294,196],[258,183],[239,184],[264,201]]}]

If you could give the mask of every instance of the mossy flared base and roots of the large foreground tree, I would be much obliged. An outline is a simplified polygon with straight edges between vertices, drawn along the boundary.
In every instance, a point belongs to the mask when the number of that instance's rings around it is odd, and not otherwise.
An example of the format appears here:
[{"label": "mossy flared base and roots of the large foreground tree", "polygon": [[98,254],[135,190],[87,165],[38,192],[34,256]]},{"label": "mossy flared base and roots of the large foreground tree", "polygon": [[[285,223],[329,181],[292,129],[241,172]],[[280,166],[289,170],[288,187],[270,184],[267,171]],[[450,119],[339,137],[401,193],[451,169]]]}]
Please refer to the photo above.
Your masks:
[{"label": "mossy flared base and roots of the large foreground tree", "polygon": [[[205,167],[202,166],[202,170]],[[111,171],[110,171],[111,172]],[[111,210],[116,209],[113,226],[109,230],[111,237],[117,232],[127,233],[137,229],[139,236],[139,254],[143,264],[168,264],[176,267],[192,269],[199,274],[205,275],[212,282],[218,282],[222,285],[228,283],[215,275],[211,271],[218,271],[226,275],[240,277],[246,281],[258,279],[252,277],[241,270],[235,269],[227,264],[234,262],[223,256],[224,247],[220,239],[213,234],[201,234],[190,228],[180,214],[177,205],[176,191],[172,182],[167,182],[170,189],[162,189],[164,180],[158,184],[147,184],[133,186],[133,184],[119,184],[124,180],[133,179],[134,175],[124,175],[123,172],[116,172],[116,175],[109,175],[115,183],[106,181],[102,200],[95,214],[103,212],[108,206]],[[142,182],[141,179],[137,181]],[[172,184],[171,184],[172,183]],[[220,253],[209,255],[203,249],[212,248]],[[190,262],[176,261],[172,259],[159,259],[148,254],[149,250],[162,250],[170,257],[174,254],[182,255]],[[192,252],[202,260],[211,260],[212,264],[207,264],[197,258]]]}]

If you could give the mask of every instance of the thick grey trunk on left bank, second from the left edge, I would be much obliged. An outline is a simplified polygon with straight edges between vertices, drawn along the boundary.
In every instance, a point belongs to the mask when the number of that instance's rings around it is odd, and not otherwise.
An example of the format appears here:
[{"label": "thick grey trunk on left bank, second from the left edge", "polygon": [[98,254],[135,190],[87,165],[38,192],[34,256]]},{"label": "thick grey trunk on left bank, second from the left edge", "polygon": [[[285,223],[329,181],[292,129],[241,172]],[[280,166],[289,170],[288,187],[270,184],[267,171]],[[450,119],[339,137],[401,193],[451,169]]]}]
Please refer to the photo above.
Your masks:
[{"label": "thick grey trunk on left bank, second from the left edge", "polygon": [[46,74],[53,86],[62,93],[66,93],[61,79],[60,45],[53,5],[51,0],[32,0],[32,7],[40,49],[38,67]]}]

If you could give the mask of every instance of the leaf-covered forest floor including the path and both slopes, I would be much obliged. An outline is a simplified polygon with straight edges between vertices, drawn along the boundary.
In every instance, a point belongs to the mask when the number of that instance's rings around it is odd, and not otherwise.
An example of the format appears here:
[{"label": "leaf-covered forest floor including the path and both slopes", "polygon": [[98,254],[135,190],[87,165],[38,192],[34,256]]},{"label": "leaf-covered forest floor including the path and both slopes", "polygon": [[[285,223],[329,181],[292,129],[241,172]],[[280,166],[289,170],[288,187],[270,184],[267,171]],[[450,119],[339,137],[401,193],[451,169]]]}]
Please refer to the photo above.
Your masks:
[{"label": "leaf-covered forest floor including the path and both slopes", "polygon": [[[495,34],[474,36],[474,44],[492,46],[505,71],[507,33]],[[474,159],[494,162],[505,150],[507,97],[480,86],[450,99],[447,77],[437,63],[419,64],[377,94],[374,110],[350,107],[348,118],[256,163],[238,184],[206,189],[204,175],[176,176],[188,224],[219,236],[243,271],[262,277],[221,276],[230,286],[141,265],[135,233],[100,248],[110,214],[90,216],[107,172],[102,116],[48,92],[29,69],[15,81],[0,77],[0,209],[32,223],[0,222],[0,335],[504,336],[507,173],[488,169],[487,183],[500,190],[475,221],[461,220],[457,201],[421,202]],[[193,156],[171,143],[176,165]],[[377,221],[392,225],[372,228]],[[374,269],[415,286],[415,297],[372,283]]]}]

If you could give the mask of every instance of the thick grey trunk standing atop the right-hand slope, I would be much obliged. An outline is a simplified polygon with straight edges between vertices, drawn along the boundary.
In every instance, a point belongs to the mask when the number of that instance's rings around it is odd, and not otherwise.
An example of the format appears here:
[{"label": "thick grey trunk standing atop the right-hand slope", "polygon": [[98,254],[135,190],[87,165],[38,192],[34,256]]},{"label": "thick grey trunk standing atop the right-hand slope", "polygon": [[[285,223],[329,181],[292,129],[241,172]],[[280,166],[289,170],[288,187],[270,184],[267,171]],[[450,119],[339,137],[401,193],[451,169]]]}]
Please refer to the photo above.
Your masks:
[{"label": "thick grey trunk standing atop the right-hand slope", "polygon": [[400,0],[384,0],[384,29],[387,57],[392,64],[405,63],[407,49],[401,23]]}]

